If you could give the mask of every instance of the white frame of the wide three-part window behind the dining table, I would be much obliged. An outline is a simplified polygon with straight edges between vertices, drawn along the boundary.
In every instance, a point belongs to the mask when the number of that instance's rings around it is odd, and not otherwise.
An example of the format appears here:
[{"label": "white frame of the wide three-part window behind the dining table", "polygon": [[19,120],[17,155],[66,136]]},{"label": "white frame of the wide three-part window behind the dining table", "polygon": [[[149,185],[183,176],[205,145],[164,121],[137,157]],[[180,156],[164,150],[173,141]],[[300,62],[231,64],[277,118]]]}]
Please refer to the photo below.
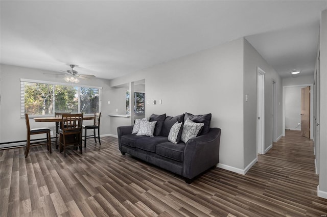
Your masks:
[{"label": "white frame of the wide three-part window behind the dining table", "polygon": [[[101,101],[102,101],[102,87],[97,86],[89,86],[89,85],[77,85],[72,83],[60,83],[60,82],[49,82],[44,80],[35,80],[35,79],[25,79],[20,78],[20,119],[25,119],[25,84],[23,83],[39,83],[39,84],[46,84],[46,85],[60,85],[60,86],[71,86],[71,87],[78,87],[78,111],[80,112],[80,93],[81,88],[90,88],[90,89],[99,89],[99,112],[101,112]],[[23,90],[24,88],[24,90]],[[53,94],[55,94],[53,89]],[[53,103],[55,101],[55,97],[53,97]],[[55,106],[53,106],[53,115],[29,115],[30,118],[36,117],[52,117],[55,114]],[[92,116],[94,114],[85,114],[85,116]]]}]

